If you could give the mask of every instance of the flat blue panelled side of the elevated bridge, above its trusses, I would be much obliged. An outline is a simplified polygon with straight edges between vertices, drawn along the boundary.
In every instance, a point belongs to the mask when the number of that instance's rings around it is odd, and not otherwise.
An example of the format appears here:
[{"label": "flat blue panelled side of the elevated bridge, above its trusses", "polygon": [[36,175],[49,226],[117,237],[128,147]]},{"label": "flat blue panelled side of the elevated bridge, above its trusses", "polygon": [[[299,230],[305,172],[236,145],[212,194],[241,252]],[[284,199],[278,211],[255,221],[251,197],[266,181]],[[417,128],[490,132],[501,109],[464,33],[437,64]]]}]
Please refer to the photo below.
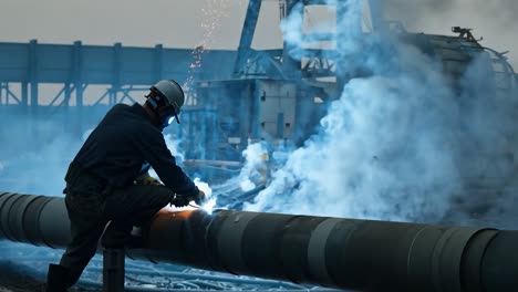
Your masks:
[{"label": "flat blue panelled side of the elevated bridge, above its trusses", "polygon": [[[0,43],[0,81],[29,80],[30,65],[35,65],[37,82],[86,84],[148,85],[157,76],[185,81],[189,74],[205,79],[229,77],[236,51],[205,51],[201,66],[195,62],[190,49],[135,48],[115,44],[68,45],[34,42],[35,60],[30,63],[29,43]],[[74,54],[77,61],[74,63]],[[221,64],[229,64],[221,66]],[[227,69],[228,67],[228,69]]]}]

